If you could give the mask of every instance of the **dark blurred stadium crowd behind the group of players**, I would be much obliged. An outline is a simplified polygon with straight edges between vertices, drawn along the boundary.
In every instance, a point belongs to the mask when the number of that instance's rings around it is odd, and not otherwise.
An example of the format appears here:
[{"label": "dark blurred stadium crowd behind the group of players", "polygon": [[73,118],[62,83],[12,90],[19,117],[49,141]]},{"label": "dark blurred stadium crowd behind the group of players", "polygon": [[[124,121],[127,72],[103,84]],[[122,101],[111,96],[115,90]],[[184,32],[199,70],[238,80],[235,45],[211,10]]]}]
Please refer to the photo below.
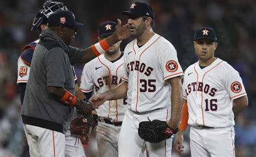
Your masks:
[{"label": "dark blurred stadium crowd behind the group of players", "polygon": [[[0,0],[0,156],[29,156],[20,115],[17,79],[17,59],[25,44],[38,39],[39,32],[31,32],[31,24],[45,1]],[[97,26],[104,21],[126,17],[120,14],[133,1],[62,1],[85,26],[77,30],[73,45],[85,48],[97,42]],[[183,70],[197,61],[192,45],[193,32],[209,26],[217,32],[219,43],[215,56],[231,64],[244,82],[249,106],[235,114],[236,156],[256,155],[256,1],[255,0],[152,0],[156,13],[153,30],[176,47]],[[100,3],[100,5],[99,5]],[[131,39],[126,39],[121,45]],[[83,65],[75,66],[77,76]],[[188,131],[184,137],[185,152],[173,156],[190,156]],[[87,156],[94,156],[97,145],[93,137],[86,147]]]}]

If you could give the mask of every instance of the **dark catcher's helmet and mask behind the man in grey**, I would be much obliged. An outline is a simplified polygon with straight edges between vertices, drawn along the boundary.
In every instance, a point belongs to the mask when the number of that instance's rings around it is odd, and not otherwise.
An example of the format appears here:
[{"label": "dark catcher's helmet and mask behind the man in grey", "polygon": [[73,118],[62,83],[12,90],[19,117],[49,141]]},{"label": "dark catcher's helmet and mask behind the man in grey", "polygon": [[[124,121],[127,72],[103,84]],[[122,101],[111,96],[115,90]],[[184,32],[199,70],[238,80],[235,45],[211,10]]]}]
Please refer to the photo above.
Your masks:
[{"label": "dark catcher's helmet and mask behind the man in grey", "polygon": [[63,3],[57,1],[46,1],[43,4],[43,9],[41,9],[34,18],[31,31],[38,30],[38,27],[41,24],[47,24],[48,17],[51,15],[51,13],[55,12],[58,9],[68,10]]}]

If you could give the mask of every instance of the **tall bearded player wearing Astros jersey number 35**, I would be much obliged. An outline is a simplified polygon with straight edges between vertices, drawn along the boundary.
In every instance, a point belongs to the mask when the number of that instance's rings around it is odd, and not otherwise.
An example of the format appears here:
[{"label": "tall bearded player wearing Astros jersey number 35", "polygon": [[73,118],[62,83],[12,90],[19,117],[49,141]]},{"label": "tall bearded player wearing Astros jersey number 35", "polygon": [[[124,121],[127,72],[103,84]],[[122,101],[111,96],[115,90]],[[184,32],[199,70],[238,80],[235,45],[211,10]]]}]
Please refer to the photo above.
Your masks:
[{"label": "tall bearded player wearing Astros jersey number 35", "polygon": [[173,45],[152,30],[154,11],[144,2],[132,3],[128,16],[131,35],[136,37],[124,50],[124,80],[113,90],[93,95],[95,106],[106,100],[125,98],[127,110],[118,141],[119,156],[141,156],[147,147],[150,156],[171,156],[172,138],[159,143],[145,142],[138,135],[142,121],[167,121],[177,130],[181,111],[183,71]]}]

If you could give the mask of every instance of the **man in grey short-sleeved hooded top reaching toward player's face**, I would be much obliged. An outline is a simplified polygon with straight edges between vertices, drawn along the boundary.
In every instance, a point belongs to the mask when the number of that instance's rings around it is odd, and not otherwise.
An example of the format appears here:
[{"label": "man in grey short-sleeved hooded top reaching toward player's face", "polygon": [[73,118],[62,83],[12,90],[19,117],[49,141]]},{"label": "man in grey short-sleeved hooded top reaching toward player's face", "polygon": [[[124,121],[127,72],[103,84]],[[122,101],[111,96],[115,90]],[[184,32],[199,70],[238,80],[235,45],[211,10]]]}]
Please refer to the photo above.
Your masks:
[{"label": "man in grey short-sleeved hooded top reaching toward player's face", "polygon": [[[78,108],[80,112],[91,112],[90,105],[80,101],[74,95],[75,84],[71,80],[71,77],[73,79],[71,65],[77,60],[81,63],[88,62],[91,59],[91,53],[103,53],[105,49],[108,49],[107,47],[118,42],[119,39],[129,37],[126,26],[120,26],[119,21],[117,31],[111,37],[85,50],[77,49],[69,46],[69,44],[75,38],[76,26],[82,24],[77,23],[73,13],[68,10],[58,10],[58,14],[55,16],[51,13],[49,19],[51,16],[51,26],[54,28],[42,30],[41,40],[39,40],[35,53],[33,53],[29,81],[26,85],[22,106],[24,131],[30,146],[31,156],[55,156],[56,154],[57,156],[64,156],[66,151],[64,134],[68,131],[73,106]],[[51,42],[53,41],[56,45],[52,45]],[[47,46],[46,49],[44,46]],[[47,53],[46,51],[54,51],[55,53]],[[61,53],[63,51],[65,54]],[[45,53],[48,56],[46,55],[44,58],[41,55],[45,55]],[[60,57],[63,58],[60,59]],[[45,62],[42,62],[43,58]],[[44,70],[46,72],[42,72]],[[46,83],[46,81],[49,82]],[[77,152],[75,153],[77,154]],[[71,156],[76,156],[76,154],[71,154]]]}]

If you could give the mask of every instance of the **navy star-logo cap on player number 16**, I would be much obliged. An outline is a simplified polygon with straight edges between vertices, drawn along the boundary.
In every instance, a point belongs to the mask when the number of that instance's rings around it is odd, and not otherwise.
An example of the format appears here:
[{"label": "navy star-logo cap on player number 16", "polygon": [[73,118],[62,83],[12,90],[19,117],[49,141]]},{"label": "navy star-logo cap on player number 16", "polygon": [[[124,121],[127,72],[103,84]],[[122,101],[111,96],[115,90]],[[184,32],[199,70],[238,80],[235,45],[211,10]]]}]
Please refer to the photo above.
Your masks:
[{"label": "navy star-logo cap on player number 16", "polygon": [[212,39],[214,42],[217,42],[217,37],[215,30],[212,28],[199,28],[194,33],[194,40],[198,39]]}]

